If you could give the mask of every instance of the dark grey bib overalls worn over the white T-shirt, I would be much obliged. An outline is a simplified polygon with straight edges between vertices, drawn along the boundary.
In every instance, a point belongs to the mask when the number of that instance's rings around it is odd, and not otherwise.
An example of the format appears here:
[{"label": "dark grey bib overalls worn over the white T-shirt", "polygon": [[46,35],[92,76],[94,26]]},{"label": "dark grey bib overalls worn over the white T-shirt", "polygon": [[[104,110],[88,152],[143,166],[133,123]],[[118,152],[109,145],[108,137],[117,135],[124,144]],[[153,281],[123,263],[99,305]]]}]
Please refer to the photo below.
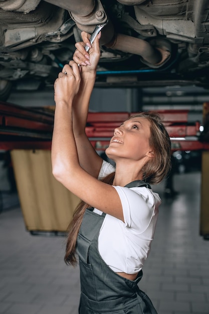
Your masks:
[{"label": "dark grey bib overalls worn over the white T-shirt", "polygon": [[[134,181],[126,187],[147,186]],[[81,297],[79,314],[157,314],[149,297],[139,289],[140,271],[135,280],[115,273],[98,251],[98,236],[106,214],[86,209],[77,239]],[[108,249],[108,248],[107,248]]]}]

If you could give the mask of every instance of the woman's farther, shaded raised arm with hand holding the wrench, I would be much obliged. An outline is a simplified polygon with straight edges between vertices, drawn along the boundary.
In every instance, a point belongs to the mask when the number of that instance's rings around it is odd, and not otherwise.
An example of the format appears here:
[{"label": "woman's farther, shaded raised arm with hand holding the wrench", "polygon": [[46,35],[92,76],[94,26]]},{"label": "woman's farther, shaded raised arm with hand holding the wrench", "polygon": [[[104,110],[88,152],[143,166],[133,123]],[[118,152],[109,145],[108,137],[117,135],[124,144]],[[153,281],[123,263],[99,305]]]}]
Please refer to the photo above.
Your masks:
[{"label": "woman's farther, shaded raised arm with hand holding the wrench", "polygon": [[[73,133],[76,141],[78,158],[81,167],[97,178],[102,165],[102,159],[91,145],[85,133],[89,102],[96,79],[96,68],[100,58],[99,38],[95,39],[92,46],[89,42],[89,34],[82,32],[83,42],[76,43],[77,50],[73,59],[80,66],[80,88],[73,100]],[[85,45],[91,49],[89,53],[84,49]],[[72,61],[70,62],[70,65]]]}]

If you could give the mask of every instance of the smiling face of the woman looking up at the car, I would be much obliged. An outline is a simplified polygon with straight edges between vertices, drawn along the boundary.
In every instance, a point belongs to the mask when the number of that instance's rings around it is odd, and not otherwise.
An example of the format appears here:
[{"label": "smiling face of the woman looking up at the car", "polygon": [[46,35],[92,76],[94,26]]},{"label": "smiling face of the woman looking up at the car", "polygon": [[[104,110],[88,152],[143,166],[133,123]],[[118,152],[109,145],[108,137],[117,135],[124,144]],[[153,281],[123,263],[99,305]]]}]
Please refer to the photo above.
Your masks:
[{"label": "smiling face of the woman looking up at the car", "polygon": [[117,161],[118,158],[140,161],[150,156],[150,122],[143,117],[133,117],[115,128],[106,154]]}]

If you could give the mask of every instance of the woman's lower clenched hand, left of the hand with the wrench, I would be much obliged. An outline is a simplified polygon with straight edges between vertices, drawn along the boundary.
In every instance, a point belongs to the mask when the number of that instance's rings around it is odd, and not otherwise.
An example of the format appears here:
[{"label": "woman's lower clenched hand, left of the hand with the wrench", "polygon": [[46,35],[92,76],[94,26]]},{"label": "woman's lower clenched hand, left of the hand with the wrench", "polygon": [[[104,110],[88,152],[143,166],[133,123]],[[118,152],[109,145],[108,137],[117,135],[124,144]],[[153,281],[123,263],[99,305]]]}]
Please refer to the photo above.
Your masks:
[{"label": "woman's lower clenched hand, left of the hand with the wrench", "polygon": [[55,81],[55,103],[63,102],[66,104],[72,103],[75,95],[79,91],[80,87],[80,66],[74,61],[70,61],[69,65],[66,64],[62,72],[58,74],[58,78]]}]

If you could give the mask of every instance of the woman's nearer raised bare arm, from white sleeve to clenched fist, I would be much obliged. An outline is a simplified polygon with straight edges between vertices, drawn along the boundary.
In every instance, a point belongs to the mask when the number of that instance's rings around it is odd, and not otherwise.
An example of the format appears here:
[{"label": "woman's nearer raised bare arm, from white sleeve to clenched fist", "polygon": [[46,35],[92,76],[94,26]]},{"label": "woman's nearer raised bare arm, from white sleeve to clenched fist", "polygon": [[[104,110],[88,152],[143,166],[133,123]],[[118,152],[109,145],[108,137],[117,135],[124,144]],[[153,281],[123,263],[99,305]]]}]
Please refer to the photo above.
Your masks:
[{"label": "woman's nearer raised bare arm, from white sleeve to clenched fist", "polygon": [[[55,120],[52,138],[54,177],[85,203],[123,220],[116,190],[85,171],[79,162],[73,132],[73,102],[80,91],[80,69],[74,61],[65,65],[55,81]],[[74,104],[75,105],[75,104]],[[79,121],[78,121],[79,122]]]}]

